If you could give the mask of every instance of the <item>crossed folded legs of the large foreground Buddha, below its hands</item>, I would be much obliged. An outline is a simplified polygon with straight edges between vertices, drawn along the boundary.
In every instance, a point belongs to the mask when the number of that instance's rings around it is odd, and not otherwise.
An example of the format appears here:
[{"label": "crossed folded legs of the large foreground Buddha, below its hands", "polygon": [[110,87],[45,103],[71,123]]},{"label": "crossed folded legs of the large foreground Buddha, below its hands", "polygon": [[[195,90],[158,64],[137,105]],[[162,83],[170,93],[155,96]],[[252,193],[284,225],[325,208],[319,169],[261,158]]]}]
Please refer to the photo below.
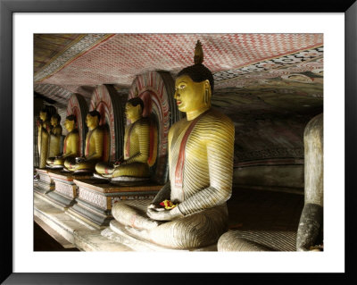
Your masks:
[{"label": "crossed folded legs of the large foreground Buddha, below its hands", "polygon": [[[146,216],[144,211],[124,202],[112,208],[115,220],[141,239],[163,247],[195,248],[206,247],[217,242],[228,228],[227,205],[219,205],[190,214],[172,222],[157,222]],[[129,229],[131,228],[131,229]]]}]

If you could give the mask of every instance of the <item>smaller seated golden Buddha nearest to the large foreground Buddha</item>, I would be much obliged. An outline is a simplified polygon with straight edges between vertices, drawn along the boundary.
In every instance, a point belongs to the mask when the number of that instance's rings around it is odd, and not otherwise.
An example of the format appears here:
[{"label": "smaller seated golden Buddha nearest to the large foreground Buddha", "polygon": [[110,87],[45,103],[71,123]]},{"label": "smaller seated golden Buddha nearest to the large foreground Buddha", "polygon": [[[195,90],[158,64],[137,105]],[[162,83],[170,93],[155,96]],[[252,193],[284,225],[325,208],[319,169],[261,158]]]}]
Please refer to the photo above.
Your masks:
[{"label": "smaller seated golden Buddha nearest to the large foreground Buddha", "polygon": [[[143,118],[144,102],[140,97],[129,99],[125,113],[130,124],[124,133],[124,156],[119,161],[97,163],[95,171],[104,178],[148,178],[150,151],[150,121]],[[97,175],[95,175],[97,177]]]}]

